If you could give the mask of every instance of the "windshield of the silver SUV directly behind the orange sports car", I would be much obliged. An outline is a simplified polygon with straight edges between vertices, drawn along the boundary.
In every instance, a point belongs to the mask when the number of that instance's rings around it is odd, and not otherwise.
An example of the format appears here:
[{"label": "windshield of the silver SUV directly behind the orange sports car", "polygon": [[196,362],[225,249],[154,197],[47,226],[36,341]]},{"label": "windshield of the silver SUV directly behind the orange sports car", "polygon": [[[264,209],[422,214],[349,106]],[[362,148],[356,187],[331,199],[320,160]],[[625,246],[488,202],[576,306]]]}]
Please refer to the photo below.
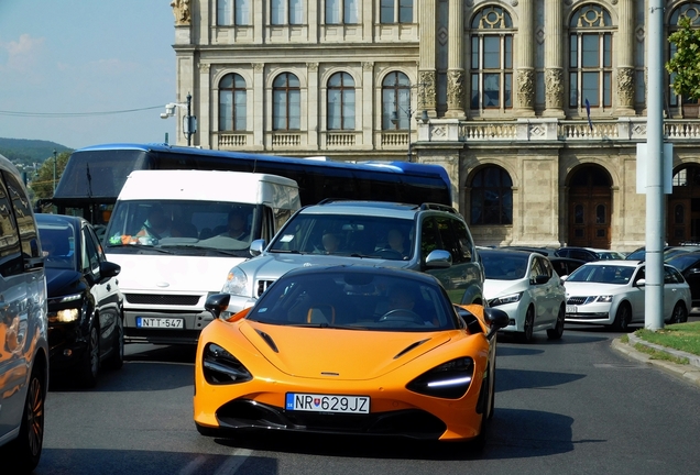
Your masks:
[{"label": "windshield of the silver SUV directly behind the orange sports car", "polygon": [[299,213],[269,251],[406,261],[413,254],[413,220],[371,216]]}]

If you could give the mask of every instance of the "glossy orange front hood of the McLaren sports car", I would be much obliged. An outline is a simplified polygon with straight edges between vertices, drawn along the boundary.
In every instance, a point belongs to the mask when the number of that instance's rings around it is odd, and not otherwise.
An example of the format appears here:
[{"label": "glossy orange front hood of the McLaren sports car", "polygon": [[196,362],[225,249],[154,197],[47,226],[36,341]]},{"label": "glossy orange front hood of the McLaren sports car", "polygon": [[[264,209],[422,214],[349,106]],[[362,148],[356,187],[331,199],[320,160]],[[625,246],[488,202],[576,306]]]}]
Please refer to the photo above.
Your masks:
[{"label": "glossy orange front hood of the McLaren sports car", "polygon": [[[452,332],[381,332],[241,322],[241,332],[291,376],[360,380],[382,376],[451,340]],[[263,332],[269,339],[260,334]],[[275,352],[267,341],[274,342]],[[403,352],[403,353],[402,353]],[[426,367],[426,371],[429,369]]]}]

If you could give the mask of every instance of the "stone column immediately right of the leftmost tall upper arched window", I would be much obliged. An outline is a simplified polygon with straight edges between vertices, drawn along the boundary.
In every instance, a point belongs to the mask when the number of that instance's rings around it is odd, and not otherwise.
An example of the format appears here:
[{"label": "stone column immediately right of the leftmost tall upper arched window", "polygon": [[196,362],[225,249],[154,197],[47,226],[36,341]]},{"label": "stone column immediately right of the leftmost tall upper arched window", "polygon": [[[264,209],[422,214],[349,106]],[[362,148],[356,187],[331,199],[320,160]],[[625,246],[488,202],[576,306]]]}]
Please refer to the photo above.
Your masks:
[{"label": "stone column immediately right of the leftmost tall upper arched window", "polygon": [[521,25],[517,29],[516,115],[535,115],[535,32],[534,0],[521,0]]}]

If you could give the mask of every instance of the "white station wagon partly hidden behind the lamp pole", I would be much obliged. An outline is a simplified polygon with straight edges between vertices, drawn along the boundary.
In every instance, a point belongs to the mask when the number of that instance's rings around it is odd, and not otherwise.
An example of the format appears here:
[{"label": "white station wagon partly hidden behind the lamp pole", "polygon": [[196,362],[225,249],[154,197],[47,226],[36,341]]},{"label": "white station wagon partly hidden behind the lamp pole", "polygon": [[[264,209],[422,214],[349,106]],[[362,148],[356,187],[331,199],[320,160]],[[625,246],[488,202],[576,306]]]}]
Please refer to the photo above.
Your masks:
[{"label": "white station wagon partly hidden behind the lamp pole", "polygon": [[[626,331],[644,322],[645,264],[637,261],[587,263],[566,277],[567,323],[593,323]],[[664,320],[680,323],[692,308],[690,287],[678,269],[664,265]]]}]

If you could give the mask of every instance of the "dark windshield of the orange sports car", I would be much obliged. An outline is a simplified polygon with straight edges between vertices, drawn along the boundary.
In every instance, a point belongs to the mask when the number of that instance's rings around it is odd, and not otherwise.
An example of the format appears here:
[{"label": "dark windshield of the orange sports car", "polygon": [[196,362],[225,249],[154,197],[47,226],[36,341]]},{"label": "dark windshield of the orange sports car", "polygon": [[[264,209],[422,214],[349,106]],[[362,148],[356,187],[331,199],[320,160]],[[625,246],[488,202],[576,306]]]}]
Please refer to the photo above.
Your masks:
[{"label": "dark windshield of the orange sports car", "polygon": [[370,331],[458,328],[457,316],[436,283],[367,272],[295,273],[259,299],[248,320],[275,325]]}]

